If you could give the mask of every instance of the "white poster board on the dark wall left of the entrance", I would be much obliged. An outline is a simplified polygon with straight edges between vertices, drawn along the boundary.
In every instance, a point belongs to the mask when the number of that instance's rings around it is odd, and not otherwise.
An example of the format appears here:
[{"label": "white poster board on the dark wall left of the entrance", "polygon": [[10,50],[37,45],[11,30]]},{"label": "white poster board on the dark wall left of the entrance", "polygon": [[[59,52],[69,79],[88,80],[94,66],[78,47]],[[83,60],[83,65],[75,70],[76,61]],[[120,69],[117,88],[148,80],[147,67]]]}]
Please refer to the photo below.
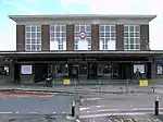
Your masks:
[{"label": "white poster board on the dark wall left of the entrance", "polygon": [[33,65],[21,65],[21,74],[33,74]]}]

